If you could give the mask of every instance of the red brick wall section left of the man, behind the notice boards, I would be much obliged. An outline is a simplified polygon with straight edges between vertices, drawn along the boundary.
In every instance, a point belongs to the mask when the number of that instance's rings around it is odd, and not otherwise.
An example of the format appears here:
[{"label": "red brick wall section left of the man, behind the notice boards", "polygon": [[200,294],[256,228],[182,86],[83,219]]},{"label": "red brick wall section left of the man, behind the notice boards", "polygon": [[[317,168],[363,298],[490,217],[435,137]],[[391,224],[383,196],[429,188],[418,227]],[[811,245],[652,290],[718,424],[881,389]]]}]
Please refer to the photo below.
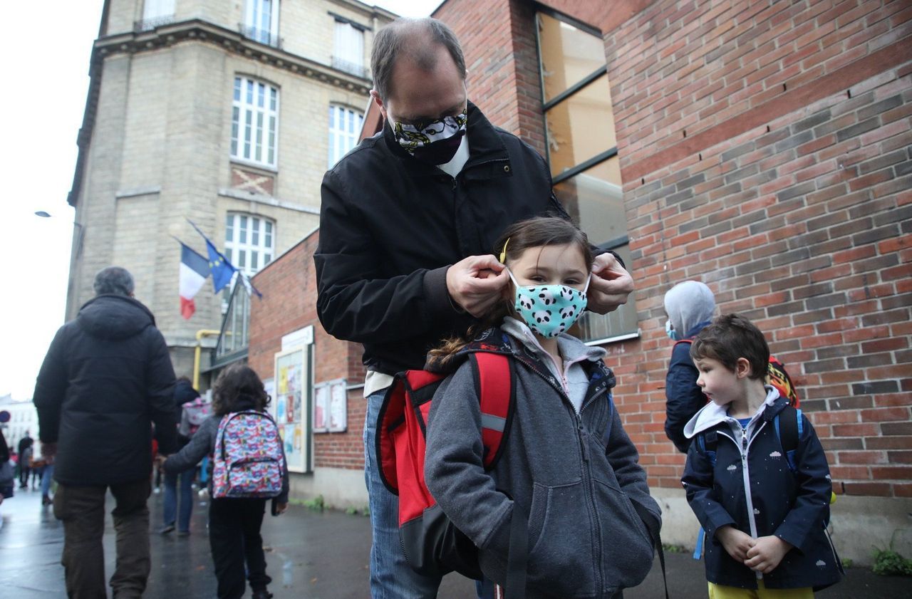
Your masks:
[{"label": "red brick wall section left of the man, behind the notice boards", "polygon": [[[308,325],[314,326],[313,382],[346,378],[348,385],[364,380],[361,346],[326,334],[316,317],[314,251],[317,232],[270,263],[254,276],[262,300],[251,301],[248,364],[262,378],[275,376],[275,354],[282,350],[282,336]],[[365,401],[361,388],[348,392],[346,432],[314,435],[316,468],[364,468]]]}]

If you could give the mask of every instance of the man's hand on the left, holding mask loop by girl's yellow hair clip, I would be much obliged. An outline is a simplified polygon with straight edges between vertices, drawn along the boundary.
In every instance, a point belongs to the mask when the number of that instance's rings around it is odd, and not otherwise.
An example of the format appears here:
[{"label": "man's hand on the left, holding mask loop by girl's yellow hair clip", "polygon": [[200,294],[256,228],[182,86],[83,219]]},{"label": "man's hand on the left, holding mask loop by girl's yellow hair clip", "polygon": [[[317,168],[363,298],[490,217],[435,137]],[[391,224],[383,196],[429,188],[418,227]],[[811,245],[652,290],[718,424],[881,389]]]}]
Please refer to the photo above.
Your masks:
[{"label": "man's hand on the left, holding mask loop by girl's yellow hair clip", "polygon": [[502,263],[492,255],[469,256],[447,269],[447,291],[456,305],[480,318],[500,301],[510,282]]}]

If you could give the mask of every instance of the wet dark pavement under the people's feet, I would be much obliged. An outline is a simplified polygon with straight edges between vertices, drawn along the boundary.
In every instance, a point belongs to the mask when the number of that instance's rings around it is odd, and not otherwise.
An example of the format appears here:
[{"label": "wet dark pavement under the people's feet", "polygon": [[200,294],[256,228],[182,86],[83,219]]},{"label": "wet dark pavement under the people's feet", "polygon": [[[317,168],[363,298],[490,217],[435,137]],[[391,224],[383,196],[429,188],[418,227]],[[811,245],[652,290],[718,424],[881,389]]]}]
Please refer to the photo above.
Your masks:
[{"label": "wet dark pavement under the people's feet", "polygon": [[[215,598],[215,577],[206,536],[204,500],[193,509],[191,534],[161,535],[161,495],[150,497],[152,571],[147,599]],[[113,509],[109,496],[108,511]],[[50,506],[41,505],[39,491],[16,490],[0,505],[0,597],[51,599],[66,597],[60,552],[63,527]],[[366,599],[370,522],[362,515],[310,511],[290,506],[263,523],[269,590],[275,599]],[[106,573],[114,568],[114,530],[110,519],[104,536]],[[668,553],[669,594],[672,599],[705,599],[703,564],[688,553]],[[845,582],[826,589],[819,599],[899,599],[910,596],[912,578],[877,576],[852,568]],[[439,599],[472,599],[474,584],[458,574],[444,578]],[[625,591],[626,599],[665,596],[658,561],[646,581]]]}]

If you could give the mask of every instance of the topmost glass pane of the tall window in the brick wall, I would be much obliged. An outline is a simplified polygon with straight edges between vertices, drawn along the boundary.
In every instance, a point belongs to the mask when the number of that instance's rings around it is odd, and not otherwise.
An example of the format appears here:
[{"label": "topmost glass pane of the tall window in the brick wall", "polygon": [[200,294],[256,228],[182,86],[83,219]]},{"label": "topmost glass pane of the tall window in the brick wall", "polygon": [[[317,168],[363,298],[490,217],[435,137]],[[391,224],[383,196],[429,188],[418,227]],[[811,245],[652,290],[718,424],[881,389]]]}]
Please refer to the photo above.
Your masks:
[{"label": "topmost glass pane of the tall window in the brick wall", "polygon": [[544,101],[558,96],[596,69],[605,70],[605,42],[550,15],[538,15]]}]

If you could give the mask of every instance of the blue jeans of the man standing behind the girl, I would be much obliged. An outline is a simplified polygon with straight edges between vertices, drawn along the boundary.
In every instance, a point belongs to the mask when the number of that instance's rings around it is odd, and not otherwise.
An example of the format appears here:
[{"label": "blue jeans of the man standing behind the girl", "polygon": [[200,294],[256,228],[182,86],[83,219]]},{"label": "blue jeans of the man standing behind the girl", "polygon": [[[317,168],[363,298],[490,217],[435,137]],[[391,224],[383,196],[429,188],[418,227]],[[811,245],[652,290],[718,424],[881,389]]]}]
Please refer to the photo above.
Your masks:
[{"label": "blue jeans of the man standing behind the girl", "polygon": [[429,578],[409,567],[399,543],[399,498],[383,486],[378,472],[377,415],[386,390],[368,396],[364,422],[364,480],[373,542],[370,545],[370,596],[372,599],[433,599],[440,578]]}]

